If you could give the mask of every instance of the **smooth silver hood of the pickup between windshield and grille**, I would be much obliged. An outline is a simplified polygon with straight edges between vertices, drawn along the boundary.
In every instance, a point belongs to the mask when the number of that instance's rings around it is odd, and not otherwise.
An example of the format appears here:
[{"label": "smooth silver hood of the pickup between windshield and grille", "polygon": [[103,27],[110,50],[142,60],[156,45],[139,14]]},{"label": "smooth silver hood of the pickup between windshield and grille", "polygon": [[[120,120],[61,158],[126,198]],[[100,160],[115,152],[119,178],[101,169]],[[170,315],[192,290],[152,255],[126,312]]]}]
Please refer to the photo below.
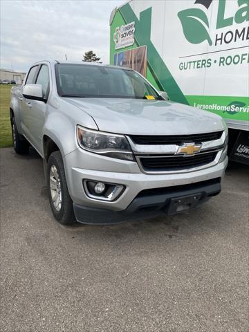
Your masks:
[{"label": "smooth silver hood of the pickup between windshield and grille", "polygon": [[[194,134],[224,129],[221,117],[164,100],[65,98],[91,116],[100,131],[130,135]],[[84,123],[80,123],[84,126]]]}]

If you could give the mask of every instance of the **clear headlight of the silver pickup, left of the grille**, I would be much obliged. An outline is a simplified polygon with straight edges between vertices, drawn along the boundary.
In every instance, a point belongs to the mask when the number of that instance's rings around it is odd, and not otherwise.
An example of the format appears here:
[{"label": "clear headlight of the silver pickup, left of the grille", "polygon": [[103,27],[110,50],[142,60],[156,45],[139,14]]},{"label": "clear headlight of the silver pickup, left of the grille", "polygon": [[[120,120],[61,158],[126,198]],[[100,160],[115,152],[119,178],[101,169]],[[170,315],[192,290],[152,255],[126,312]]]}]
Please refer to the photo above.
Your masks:
[{"label": "clear headlight of the silver pickup, left of the grille", "polygon": [[113,133],[103,133],[77,126],[77,142],[87,151],[112,158],[133,161],[133,153],[126,137]]}]

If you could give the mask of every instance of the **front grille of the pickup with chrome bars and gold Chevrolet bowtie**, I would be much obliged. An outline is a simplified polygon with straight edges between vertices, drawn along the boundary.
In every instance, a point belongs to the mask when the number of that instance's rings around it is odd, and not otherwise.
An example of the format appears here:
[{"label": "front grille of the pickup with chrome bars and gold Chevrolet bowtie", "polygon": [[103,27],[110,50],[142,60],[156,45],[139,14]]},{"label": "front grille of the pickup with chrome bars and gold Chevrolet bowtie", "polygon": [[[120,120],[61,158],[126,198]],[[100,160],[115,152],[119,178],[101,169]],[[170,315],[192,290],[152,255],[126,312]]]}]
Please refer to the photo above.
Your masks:
[{"label": "front grille of the pickup with chrome bars and gold Chevrolet bowtie", "polygon": [[[219,163],[226,132],[178,136],[127,136],[142,172],[193,172]],[[200,149],[191,149],[199,145]],[[185,149],[187,147],[187,149]],[[183,148],[183,149],[181,149]]]}]

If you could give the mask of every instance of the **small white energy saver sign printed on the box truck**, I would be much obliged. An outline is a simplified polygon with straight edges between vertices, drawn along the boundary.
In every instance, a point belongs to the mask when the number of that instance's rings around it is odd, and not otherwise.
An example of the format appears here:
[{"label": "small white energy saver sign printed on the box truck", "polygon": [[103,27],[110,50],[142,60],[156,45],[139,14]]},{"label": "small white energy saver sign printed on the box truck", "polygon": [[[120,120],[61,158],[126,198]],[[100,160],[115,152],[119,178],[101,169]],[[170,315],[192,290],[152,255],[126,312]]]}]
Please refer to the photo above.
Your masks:
[{"label": "small white energy saver sign printed on the box truck", "polygon": [[124,48],[134,44],[135,22],[126,24],[125,26],[118,26],[113,35],[115,42],[115,49]]}]

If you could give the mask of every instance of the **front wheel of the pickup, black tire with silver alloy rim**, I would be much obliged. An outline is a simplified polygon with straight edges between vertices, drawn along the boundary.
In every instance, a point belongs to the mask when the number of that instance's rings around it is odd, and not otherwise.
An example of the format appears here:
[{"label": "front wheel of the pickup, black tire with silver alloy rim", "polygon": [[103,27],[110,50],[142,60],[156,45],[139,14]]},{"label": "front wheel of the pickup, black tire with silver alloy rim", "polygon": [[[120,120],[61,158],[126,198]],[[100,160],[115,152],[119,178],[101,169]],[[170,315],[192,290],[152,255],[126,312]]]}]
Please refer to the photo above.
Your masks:
[{"label": "front wheel of the pickup, black tire with silver alloy rim", "polygon": [[[51,174],[54,174],[53,170],[55,169],[57,171],[57,176],[59,178],[59,181],[57,181],[54,176],[51,176]],[[52,154],[50,154],[48,158],[47,178],[48,178],[49,202],[55,219],[59,221],[59,223],[62,223],[62,225],[72,225],[73,223],[75,223],[75,215],[73,213],[73,202],[68,193],[62,155],[60,154],[59,151],[53,152]],[[54,181],[57,181],[56,187],[59,188],[56,189],[57,192],[55,192]],[[57,197],[56,194],[60,196],[59,199],[59,201],[61,201],[60,205],[59,203],[58,205],[56,204],[55,201],[55,197]]]}]

